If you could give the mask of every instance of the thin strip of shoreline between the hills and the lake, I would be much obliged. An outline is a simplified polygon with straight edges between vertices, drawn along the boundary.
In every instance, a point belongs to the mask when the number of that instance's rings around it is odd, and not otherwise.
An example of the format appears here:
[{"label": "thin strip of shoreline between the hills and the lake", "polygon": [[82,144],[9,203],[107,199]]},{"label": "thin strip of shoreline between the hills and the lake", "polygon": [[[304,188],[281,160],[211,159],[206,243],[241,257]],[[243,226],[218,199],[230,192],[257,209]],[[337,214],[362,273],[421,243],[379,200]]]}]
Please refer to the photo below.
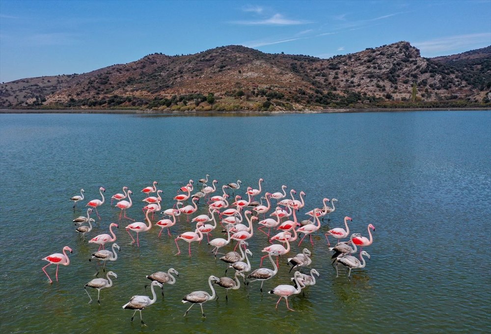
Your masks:
[{"label": "thin strip of shoreline between the hills and the lake", "polygon": [[166,111],[166,110],[137,110],[137,109],[0,109],[0,114],[147,114],[147,115],[276,115],[276,114],[329,114],[329,113],[359,113],[359,112],[394,112],[394,111],[463,111],[491,110],[489,107],[468,108],[366,108],[366,109],[324,109],[296,111]]}]

